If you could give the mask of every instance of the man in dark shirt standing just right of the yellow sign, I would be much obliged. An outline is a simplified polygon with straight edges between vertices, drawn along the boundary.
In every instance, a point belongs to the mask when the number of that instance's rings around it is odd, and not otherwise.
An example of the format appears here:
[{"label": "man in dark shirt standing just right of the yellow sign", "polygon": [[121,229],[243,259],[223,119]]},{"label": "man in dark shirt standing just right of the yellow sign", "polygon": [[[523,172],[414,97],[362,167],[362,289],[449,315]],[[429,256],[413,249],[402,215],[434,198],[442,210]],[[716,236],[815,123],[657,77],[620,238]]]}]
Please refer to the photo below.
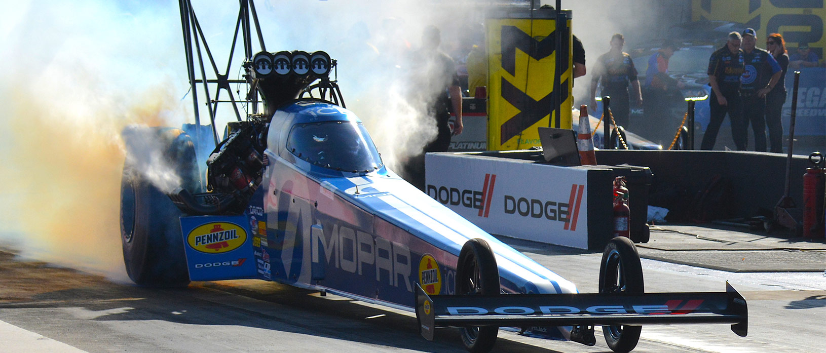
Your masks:
[{"label": "man in dark shirt standing just right of the yellow sign", "polygon": [[634,61],[631,60],[631,55],[622,51],[623,45],[625,45],[624,36],[619,33],[613,35],[610,45],[610,51],[597,58],[596,65],[594,65],[594,75],[591,78],[591,106],[596,106],[596,86],[601,81],[602,96],[611,97],[610,108],[616,125],[628,129],[631,109],[628,92],[629,83],[632,91],[634,91],[637,104],[640,106],[643,104],[643,95],[639,91],[639,81],[637,80],[637,69],[634,68]]}]

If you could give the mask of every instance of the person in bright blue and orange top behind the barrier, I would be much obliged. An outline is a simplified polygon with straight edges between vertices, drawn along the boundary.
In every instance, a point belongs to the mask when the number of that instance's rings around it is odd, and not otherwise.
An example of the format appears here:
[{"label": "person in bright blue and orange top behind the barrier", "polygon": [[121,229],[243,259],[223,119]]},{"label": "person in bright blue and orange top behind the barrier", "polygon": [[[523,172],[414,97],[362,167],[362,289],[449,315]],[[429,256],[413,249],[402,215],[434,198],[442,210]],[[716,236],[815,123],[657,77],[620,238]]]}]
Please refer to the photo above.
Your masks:
[{"label": "person in bright blue and orange top behind the barrier", "polygon": [[682,101],[680,88],[685,84],[668,75],[668,59],[679,49],[672,40],[666,40],[657,53],[648,58],[648,69],[645,70],[643,119],[650,128],[646,136],[659,144],[670,143],[677,127],[671,116],[670,103],[675,99]]}]

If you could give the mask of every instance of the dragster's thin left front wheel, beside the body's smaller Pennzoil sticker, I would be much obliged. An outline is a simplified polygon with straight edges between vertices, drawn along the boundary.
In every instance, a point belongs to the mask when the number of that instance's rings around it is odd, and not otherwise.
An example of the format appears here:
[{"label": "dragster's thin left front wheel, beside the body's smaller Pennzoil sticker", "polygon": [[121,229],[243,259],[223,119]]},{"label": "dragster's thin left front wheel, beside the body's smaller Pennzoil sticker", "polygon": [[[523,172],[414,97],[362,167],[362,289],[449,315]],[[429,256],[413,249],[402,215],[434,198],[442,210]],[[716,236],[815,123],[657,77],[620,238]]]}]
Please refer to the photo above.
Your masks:
[{"label": "dragster's thin left front wheel, beside the body's smaller Pennzoil sticker", "polygon": [[[500,294],[499,267],[486,241],[465,242],[456,266],[456,294]],[[462,327],[462,343],[472,353],[487,353],[496,344],[499,327]]]}]

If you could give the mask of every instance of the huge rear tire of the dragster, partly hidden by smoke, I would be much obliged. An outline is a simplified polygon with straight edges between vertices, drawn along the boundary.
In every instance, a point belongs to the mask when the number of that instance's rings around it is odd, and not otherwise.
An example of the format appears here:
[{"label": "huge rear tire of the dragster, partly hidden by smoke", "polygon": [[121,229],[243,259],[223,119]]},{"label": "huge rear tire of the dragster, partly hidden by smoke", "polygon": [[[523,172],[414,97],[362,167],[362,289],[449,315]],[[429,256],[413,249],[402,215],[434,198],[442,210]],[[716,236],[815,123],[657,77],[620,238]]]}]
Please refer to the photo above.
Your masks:
[{"label": "huge rear tire of the dragster, partly hidden by smoke", "polygon": [[171,128],[127,128],[121,177],[121,244],[126,273],[137,285],[186,287],[189,271],[180,217],[184,214],[146,176],[160,164],[197,191],[195,148],[188,134]]}]

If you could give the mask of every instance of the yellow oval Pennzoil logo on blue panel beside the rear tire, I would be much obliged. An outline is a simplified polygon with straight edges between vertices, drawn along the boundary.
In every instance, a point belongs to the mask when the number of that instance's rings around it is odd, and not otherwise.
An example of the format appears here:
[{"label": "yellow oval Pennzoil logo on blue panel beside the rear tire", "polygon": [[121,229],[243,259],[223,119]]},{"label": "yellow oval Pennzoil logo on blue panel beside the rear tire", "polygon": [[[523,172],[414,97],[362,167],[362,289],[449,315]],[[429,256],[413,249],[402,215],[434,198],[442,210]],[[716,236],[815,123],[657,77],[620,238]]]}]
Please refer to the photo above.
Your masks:
[{"label": "yellow oval Pennzoil logo on blue panel beside the rear tire", "polygon": [[247,241],[247,232],[238,224],[211,222],[202,224],[187,236],[189,247],[207,254],[231,252]]}]

